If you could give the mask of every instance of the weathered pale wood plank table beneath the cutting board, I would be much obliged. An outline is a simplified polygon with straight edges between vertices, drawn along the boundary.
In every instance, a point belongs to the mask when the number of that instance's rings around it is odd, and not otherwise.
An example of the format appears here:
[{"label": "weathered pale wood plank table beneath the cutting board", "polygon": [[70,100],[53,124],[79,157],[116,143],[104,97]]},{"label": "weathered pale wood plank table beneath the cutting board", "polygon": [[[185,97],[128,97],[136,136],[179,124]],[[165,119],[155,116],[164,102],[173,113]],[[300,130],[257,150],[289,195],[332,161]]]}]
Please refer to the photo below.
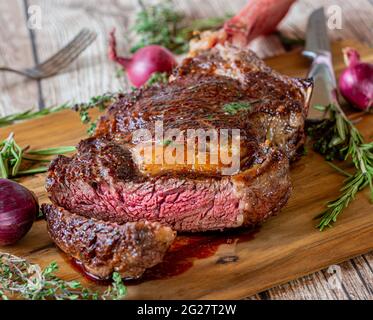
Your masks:
[{"label": "weathered pale wood plank table beneath the cutting board", "polygon": [[[175,5],[191,17],[237,12],[245,2],[174,0]],[[342,28],[331,30],[333,39],[357,39],[373,45],[372,0],[299,0],[281,23],[280,30],[289,36],[303,37],[307,16],[321,5],[341,9]],[[1,1],[0,65],[32,66],[56,52],[83,27],[95,30],[98,39],[67,70],[50,79],[30,81],[0,73],[0,116],[31,107],[40,109],[72,100],[86,101],[106,91],[126,90],[128,83],[115,76],[116,67],[106,58],[106,43],[109,30],[115,26],[118,35],[123,37],[119,49],[127,52],[130,41],[127,35],[136,9],[135,0]],[[38,10],[41,10],[41,28],[30,29],[30,24],[35,26],[32,15]],[[284,52],[274,36],[259,39],[252,47],[263,57]],[[340,286],[336,285],[339,283],[335,281],[336,276],[341,279]],[[248,299],[373,299],[373,253]]]}]

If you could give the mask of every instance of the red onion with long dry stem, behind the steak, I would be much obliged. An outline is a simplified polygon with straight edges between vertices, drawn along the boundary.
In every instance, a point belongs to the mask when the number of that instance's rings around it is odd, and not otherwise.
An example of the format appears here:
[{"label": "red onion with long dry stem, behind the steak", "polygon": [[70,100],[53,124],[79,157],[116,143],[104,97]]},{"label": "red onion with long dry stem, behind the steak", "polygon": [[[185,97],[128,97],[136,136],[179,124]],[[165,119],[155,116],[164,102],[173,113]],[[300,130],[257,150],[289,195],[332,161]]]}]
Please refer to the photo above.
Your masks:
[{"label": "red onion with long dry stem, behind the steak", "polygon": [[123,66],[129,80],[136,87],[145,84],[152,73],[170,73],[176,66],[176,60],[172,53],[158,45],[141,48],[131,58],[118,57],[115,30],[110,33],[109,58]]}]

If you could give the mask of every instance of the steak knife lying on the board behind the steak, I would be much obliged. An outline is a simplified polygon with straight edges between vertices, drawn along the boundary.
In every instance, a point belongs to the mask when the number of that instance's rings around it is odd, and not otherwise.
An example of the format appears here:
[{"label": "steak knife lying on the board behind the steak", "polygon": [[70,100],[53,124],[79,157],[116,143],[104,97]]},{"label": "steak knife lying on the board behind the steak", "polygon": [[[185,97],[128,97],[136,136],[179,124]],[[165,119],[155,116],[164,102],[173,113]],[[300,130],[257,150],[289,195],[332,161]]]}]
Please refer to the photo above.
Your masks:
[{"label": "steak knife lying on the board behind the steak", "polygon": [[332,103],[332,92],[337,86],[324,8],[313,11],[309,17],[303,55],[312,60],[308,77],[314,80],[309,118],[320,118],[322,113],[313,106]]}]

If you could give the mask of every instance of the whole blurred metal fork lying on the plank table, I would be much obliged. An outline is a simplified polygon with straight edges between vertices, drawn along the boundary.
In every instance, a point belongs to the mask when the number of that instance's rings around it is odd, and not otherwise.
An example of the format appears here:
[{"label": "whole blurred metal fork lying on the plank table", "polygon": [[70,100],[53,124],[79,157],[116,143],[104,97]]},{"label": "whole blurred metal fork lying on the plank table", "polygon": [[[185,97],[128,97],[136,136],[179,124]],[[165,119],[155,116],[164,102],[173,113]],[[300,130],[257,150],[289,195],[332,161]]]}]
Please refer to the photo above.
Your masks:
[{"label": "whole blurred metal fork lying on the plank table", "polygon": [[60,51],[35,67],[17,70],[3,66],[0,67],[0,71],[14,72],[36,80],[48,78],[73,62],[96,37],[96,32],[84,28]]}]

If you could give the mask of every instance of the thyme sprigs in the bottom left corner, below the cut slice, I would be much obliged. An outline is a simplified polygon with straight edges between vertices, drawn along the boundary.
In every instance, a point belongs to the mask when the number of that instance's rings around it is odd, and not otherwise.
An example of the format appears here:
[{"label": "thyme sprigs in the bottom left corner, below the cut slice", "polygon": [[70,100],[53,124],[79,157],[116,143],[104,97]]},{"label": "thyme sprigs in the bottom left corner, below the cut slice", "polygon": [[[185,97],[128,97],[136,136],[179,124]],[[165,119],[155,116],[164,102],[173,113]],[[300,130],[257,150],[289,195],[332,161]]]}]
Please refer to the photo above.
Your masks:
[{"label": "thyme sprigs in the bottom left corner, below the cut slice", "polygon": [[44,270],[37,264],[0,252],[0,299],[23,298],[27,300],[120,300],[127,289],[118,273],[113,283],[100,295],[84,288],[78,281],[65,281],[56,276],[57,263]]}]

